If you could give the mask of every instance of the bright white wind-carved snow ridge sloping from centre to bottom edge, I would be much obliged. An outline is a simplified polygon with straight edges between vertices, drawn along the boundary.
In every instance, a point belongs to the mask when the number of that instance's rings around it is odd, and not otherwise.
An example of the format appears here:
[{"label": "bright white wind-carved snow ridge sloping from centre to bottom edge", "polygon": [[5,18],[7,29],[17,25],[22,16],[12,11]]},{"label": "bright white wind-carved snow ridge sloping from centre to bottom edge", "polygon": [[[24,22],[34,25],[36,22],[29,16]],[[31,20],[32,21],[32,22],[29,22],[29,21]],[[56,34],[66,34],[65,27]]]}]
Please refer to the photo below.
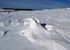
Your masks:
[{"label": "bright white wind-carved snow ridge sloping from centre to bottom edge", "polygon": [[64,46],[60,44],[66,41],[66,37],[59,33],[53,34],[51,32],[54,30],[52,25],[43,27],[38,19],[27,18],[24,19],[24,27],[26,27],[26,29],[23,29],[20,35],[28,38],[32,43],[46,46],[49,50],[58,50],[58,48],[61,48],[60,50],[66,50]]}]

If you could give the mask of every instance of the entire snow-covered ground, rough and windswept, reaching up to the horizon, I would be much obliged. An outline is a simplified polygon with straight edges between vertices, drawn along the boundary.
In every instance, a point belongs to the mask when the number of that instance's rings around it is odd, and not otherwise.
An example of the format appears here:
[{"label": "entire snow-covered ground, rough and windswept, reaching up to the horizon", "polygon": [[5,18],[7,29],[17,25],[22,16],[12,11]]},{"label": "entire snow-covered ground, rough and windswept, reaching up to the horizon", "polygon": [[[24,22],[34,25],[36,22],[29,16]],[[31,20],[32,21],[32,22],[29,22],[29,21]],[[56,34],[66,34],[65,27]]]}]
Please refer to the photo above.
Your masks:
[{"label": "entire snow-covered ground, rough and windswept, reaching up to the horizon", "polygon": [[0,12],[0,50],[70,50],[70,9]]}]

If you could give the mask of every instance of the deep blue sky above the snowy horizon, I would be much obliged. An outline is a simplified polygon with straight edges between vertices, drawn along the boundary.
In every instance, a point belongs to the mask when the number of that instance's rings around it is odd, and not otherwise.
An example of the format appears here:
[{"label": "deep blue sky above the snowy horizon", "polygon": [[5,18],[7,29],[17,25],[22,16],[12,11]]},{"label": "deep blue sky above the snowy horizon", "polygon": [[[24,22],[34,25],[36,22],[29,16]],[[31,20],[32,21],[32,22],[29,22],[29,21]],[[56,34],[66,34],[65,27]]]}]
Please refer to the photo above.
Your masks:
[{"label": "deep blue sky above the snowy horizon", "polygon": [[70,7],[70,0],[0,0],[0,8],[55,9]]}]

